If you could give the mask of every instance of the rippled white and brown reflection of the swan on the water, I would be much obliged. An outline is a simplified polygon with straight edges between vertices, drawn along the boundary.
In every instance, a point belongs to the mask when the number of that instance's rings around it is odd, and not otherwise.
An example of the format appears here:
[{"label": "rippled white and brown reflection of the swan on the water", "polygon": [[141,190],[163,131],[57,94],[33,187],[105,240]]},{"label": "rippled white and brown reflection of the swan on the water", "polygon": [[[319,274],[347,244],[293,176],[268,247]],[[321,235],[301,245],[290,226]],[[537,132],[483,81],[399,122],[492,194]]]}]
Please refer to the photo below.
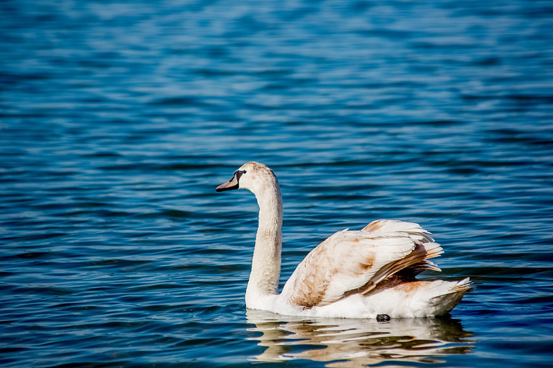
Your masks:
[{"label": "rippled white and brown reflection of the swan on the water", "polygon": [[310,318],[282,316],[248,309],[249,331],[260,332],[267,347],[252,360],[279,362],[308,359],[329,362],[326,367],[364,367],[381,362],[440,362],[440,356],[467,354],[472,336],[451,318],[374,319]]}]

